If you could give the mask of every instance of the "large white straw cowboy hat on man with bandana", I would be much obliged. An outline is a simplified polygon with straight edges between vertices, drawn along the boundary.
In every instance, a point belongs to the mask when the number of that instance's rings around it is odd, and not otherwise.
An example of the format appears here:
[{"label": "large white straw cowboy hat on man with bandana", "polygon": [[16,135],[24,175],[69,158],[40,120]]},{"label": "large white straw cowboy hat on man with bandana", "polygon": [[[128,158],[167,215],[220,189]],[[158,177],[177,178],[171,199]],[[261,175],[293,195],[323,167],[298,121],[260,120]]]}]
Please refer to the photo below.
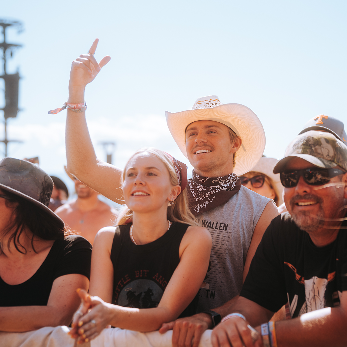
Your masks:
[{"label": "large white straw cowboy hat on man with bandana", "polygon": [[241,104],[222,104],[217,95],[198,98],[191,110],[165,112],[170,133],[181,152],[188,158],[186,151],[186,128],[197,120],[213,120],[225,124],[242,139],[236,152],[236,175],[251,171],[263,155],[265,133],[259,118],[248,107]]}]

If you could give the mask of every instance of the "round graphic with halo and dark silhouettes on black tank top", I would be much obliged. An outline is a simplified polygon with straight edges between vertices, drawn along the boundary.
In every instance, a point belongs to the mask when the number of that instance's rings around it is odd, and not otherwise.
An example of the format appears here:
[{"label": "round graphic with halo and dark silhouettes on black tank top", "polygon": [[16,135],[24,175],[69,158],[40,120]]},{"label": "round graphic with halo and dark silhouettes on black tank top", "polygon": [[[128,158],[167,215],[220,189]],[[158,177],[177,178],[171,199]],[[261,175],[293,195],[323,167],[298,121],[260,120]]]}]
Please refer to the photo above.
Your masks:
[{"label": "round graphic with halo and dark silhouettes on black tank top", "polygon": [[128,283],[118,297],[118,305],[123,307],[152,308],[157,307],[163,290],[154,282],[138,279]]}]

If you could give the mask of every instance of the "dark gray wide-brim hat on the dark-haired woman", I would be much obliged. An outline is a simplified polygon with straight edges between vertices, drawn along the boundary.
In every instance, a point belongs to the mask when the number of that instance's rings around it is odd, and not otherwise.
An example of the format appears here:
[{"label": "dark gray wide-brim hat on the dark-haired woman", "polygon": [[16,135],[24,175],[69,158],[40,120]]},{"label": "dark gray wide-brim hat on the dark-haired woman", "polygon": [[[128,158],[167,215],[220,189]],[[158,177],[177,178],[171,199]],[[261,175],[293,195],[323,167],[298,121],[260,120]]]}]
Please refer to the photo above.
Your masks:
[{"label": "dark gray wide-brim hat on the dark-haired woman", "polygon": [[35,164],[16,158],[0,161],[0,189],[16,194],[48,213],[64,226],[64,222],[47,206],[52,191],[53,180]]}]

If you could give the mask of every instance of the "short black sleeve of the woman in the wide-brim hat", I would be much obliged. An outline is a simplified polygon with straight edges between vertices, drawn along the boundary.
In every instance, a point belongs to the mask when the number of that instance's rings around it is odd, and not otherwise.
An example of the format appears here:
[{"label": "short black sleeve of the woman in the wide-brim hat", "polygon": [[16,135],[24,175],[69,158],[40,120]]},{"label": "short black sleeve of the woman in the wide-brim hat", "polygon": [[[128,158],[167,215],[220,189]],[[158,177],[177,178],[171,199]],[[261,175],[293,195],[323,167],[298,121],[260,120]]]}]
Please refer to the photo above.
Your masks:
[{"label": "short black sleeve of the woman in the wide-brim hat", "polygon": [[53,281],[71,273],[78,273],[90,279],[92,245],[78,235],[67,236],[64,241],[65,247],[59,254]]}]

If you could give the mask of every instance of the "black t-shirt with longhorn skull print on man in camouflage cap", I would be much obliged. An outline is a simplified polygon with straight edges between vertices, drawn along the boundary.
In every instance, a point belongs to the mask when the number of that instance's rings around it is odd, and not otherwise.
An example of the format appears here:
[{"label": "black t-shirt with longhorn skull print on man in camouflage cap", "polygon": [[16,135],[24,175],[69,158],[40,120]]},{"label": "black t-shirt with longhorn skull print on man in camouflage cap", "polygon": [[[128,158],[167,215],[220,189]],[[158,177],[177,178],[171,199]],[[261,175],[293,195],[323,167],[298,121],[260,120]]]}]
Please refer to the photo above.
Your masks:
[{"label": "black t-shirt with longhorn skull print on man in camouflage cap", "polygon": [[[347,221],[342,223],[347,226]],[[316,247],[290,214],[274,218],[253,257],[241,296],[272,312],[289,303],[291,317],[340,305],[347,290],[347,230]]]}]

